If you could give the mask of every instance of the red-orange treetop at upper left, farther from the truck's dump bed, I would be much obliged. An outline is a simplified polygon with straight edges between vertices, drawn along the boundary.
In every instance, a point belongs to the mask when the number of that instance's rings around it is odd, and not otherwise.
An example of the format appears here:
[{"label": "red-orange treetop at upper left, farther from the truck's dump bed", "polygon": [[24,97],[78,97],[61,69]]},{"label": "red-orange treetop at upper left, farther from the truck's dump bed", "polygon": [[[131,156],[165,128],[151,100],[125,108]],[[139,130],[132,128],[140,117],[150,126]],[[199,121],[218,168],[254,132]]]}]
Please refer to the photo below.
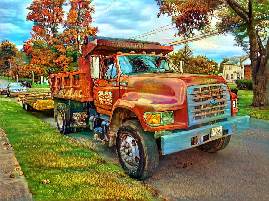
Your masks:
[{"label": "red-orange treetop at upper left, farther from the truck's dump bed", "polygon": [[57,38],[59,25],[63,22],[64,0],[33,0],[27,7],[27,20],[34,22],[32,37],[36,39]]}]

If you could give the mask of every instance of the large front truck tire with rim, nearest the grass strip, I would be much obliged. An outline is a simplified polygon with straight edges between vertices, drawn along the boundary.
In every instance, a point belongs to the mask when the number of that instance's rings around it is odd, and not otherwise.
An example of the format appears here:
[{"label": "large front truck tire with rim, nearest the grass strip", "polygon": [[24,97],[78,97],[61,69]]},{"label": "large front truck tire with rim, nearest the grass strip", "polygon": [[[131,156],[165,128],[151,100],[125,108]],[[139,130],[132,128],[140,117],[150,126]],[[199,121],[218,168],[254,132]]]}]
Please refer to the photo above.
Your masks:
[{"label": "large front truck tire with rim, nearest the grass strip", "polygon": [[159,162],[154,135],[143,131],[138,120],[129,120],[119,126],[116,152],[123,170],[136,179],[147,179]]}]

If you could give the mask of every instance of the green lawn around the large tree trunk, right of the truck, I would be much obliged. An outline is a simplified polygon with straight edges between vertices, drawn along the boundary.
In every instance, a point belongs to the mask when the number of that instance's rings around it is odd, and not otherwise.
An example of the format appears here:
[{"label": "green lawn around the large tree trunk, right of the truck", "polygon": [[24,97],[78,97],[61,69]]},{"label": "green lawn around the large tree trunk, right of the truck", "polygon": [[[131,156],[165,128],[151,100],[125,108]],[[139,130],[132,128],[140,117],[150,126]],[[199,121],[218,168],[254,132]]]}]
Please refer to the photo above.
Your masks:
[{"label": "green lawn around the large tree trunk, right of the truck", "polygon": [[253,101],[252,90],[239,90],[237,95],[239,108],[237,115],[249,115],[257,119],[269,120],[269,106],[251,107]]}]

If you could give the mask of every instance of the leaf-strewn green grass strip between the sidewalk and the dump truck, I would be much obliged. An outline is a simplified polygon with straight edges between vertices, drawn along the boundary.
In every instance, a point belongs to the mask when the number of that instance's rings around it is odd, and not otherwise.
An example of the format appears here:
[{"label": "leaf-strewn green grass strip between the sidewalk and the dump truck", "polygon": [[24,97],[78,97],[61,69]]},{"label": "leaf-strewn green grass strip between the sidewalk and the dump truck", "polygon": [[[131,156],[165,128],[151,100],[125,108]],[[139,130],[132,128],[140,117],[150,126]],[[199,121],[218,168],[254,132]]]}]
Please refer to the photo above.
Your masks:
[{"label": "leaf-strewn green grass strip between the sidewalk and the dump truck", "polygon": [[[70,137],[17,103],[0,102],[0,126],[16,151],[34,200],[154,199],[141,182],[83,145],[72,144]],[[51,183],[42,184],[45,179]]]}]

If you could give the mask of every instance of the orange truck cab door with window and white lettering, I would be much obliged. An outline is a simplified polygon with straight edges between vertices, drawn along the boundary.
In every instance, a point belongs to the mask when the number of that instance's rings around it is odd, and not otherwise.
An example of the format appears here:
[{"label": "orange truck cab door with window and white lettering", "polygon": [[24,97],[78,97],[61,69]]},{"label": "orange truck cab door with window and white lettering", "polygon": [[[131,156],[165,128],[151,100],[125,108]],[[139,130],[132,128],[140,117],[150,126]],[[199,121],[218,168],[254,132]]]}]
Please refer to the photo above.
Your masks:
[{"label": "orange truck cab door with window and white lettering", "polygon": [[116,62],[113,58],[101,61],[99,79],[94,81],[94,104],[97,112],[111,114],[114,103],[119,99],[119,82]]}]

